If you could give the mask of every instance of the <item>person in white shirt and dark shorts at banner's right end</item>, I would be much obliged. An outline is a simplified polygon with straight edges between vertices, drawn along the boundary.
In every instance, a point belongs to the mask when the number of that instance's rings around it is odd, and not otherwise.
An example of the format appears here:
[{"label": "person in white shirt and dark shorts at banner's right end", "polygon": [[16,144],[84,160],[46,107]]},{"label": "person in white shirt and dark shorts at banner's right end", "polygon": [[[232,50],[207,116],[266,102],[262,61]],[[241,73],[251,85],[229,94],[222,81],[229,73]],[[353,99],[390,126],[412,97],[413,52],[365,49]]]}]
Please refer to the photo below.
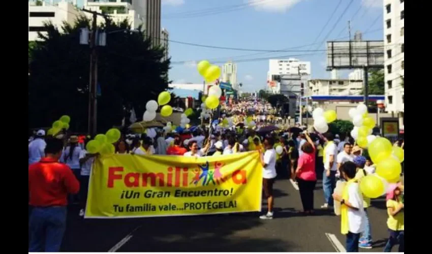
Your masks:
[{"label": "person in white shirt and dark shorts at banner's right end", "polygon": [[274,140],[273,138],[264,139],[265,152],[260,152],[261,164],[263,166],[263,188],[264,194],[267,198],[267,213],[261,215],[261,219],[272,219],[273,218],[273,183],[276,179],[276,151],[273,149]]}]

